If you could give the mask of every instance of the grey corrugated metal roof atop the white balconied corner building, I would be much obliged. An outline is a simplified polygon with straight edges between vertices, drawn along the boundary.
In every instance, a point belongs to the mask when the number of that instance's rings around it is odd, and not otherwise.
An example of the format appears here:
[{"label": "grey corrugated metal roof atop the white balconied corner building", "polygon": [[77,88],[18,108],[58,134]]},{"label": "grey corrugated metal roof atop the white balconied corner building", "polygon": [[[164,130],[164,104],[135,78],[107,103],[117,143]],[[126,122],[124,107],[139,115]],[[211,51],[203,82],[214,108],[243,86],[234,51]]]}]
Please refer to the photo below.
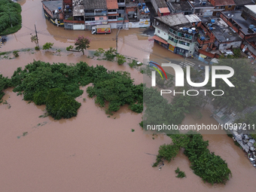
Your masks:
[{"label": "grey corrugated metal roof atop the white balconied corner building", "polygon": [[162,17],[156,17],[156,19],[168,26],[178,26],[180,24],[190,23],[184,14],[170,14]]}]

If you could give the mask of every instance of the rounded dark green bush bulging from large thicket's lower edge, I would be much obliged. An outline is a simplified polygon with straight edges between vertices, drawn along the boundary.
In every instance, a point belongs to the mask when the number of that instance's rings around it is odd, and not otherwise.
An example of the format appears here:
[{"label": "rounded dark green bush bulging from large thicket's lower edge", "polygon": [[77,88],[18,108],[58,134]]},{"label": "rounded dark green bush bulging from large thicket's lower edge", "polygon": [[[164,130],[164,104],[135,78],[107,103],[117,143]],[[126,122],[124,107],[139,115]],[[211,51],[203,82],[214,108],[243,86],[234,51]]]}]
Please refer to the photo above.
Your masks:
[{"label": "rounded dark green bush bulging from large thicket's lower edge", "polygon": [[77,102],[72,96],[63,93],[61,89],[49,90],[46,99],[46,110],[54,119],[75,117],[80,106],[81,103]]}]

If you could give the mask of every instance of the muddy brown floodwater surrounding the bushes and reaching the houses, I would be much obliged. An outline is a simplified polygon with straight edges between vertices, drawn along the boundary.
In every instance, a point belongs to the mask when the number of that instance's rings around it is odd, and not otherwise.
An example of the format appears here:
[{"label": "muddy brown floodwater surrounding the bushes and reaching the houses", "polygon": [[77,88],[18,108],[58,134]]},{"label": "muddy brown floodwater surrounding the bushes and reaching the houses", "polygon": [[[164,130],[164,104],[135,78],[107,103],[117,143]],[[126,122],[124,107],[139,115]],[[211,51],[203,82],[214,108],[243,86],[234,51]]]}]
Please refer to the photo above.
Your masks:
[{"label": "muddy brown floodwater surrounding the bushes and reaching the houses", "polygon": [[[115,31],[111,35],[93,36],[90,32],[57,28],[44,19],[41,1],[22,3],[23,28],[8,35],[8,42],[1,51],[35,47],[30,42],[35,23],[40,45],[50,41],[55,47],[65,49],[78,35],[85,35],[92,40],[90,49],[115,46],[111,39]],[[118,51],[139,60],[179,58],[148,41],[148,37],[137,35],[139,32],[143,29],[121,31]],[[24,67],[33,59],[67,63],[85,61],[110,70],[128,71],[136,84],[143,81],[142,74],[127,65],[88,59],[81,53],[61,54],[54,56],[42,50],[20,52],[17,59],[1,59],[0,72],[10,78],[17,67]],[[157,154],[159,146],[170,143],[171,139],[163,135],[152,139],[151,135],[143,133],[139,127],[142,114],[133,113],[127,106],[108,118],[104,109],[87,97],[86,87],[81,89],[84,94],[77,98],[82,104],[78,116],[69,120],[40,118],[44,105],[23,101],[23,96],[17,96],[12,88],[5,90],[3,99],[8,104],[0,104],[0,191],[254,191],[255,169],[226,135],[203,135],[209,140],[209,149],[226,160],[233,173],[226,185],[203,183],[190,169],[190,162],[182,151],[159,171],[151,167],[156,157],[150,154]],[[204,110],[202,119],[195,120],[187,115],[183,123],[217,124],[209,116],[209,111]],[[177,166],[187,178],[175,178]]]}]

